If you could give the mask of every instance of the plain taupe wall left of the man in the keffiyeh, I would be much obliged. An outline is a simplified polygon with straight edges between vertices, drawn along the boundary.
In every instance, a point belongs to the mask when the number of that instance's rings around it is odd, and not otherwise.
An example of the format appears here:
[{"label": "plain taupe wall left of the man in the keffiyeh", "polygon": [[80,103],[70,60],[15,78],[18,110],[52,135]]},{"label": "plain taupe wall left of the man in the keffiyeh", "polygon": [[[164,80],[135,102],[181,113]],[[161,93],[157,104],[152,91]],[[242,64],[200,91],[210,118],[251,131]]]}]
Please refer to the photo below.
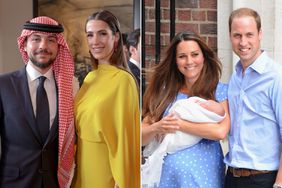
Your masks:
[{"label": "plain taupe wall left of the man in the keffiyeh", "polygon": [[23,66],[17,38],[33,14],[32,0],[0,0],[0,73]]}]

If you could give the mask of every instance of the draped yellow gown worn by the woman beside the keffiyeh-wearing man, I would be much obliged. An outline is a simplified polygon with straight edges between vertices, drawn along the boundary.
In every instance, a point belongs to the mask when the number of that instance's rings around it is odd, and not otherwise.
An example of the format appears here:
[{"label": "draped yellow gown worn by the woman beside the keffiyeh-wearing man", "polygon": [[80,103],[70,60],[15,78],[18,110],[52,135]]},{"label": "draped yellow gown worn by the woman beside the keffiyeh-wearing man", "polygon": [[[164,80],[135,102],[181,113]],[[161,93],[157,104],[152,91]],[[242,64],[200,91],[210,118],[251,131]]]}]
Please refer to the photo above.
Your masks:
[{"label": "draped yellow gown worn by the woman beside the keffiyeh-wearing man", "polygon": [[140,187],[140,112],[128,72],[99,65],[75,98],[75,188]]}]

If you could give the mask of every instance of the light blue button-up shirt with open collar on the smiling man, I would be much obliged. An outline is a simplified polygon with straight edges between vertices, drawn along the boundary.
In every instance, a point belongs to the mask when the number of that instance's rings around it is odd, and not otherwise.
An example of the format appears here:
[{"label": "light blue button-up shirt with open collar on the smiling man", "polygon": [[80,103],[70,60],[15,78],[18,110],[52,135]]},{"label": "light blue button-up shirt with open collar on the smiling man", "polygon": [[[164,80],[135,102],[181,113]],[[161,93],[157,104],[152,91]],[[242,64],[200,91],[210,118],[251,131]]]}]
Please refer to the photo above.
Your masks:
[{"label": "light blue button-up shirt with open collar on the smiling man", "polygon": [[277,170],[282,135],[282,67],[266,52],[243,74],[238,62],[228,87],[228,166]]}]

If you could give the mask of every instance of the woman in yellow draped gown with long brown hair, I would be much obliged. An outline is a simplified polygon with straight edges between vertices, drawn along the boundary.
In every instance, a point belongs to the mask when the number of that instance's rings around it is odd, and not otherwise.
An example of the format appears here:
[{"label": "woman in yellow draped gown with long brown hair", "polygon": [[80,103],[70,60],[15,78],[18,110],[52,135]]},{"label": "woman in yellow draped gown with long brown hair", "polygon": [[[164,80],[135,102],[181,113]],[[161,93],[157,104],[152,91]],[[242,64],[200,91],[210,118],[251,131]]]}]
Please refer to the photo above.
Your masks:
[{"label": "woman in yellow draped gown with long brown hair", "polygon": [[120,26],[109,11],[86,20],[94,70],[75,98],[75,188],[140,187],[140,113],[125,61]]}]

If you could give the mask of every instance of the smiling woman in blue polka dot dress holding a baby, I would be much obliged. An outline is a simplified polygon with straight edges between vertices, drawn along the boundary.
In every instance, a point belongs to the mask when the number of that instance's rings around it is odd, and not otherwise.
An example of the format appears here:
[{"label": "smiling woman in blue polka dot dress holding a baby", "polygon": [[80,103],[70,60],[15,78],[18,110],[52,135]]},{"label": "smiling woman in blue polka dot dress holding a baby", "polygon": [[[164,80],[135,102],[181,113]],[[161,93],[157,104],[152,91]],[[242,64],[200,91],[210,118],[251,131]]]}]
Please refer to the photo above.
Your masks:
[{"label": "smiling woman in blue polka dot dress holding a baby", "polygon": [[[203,139],[164,157],[158,188],[222,188],[225,166],[218,140],[230,129],[227,85],[219,83],[221,63],[194,32],[178,33],[162,62],[153,68],[143,97],[142,145],[176,130]],[[189,96],[220,102],[226,116],[220,123],[192,123],[168,114],[172,104]],[[161,160],[161,159],[160,159]],[[147,188],[142,184],[143,188]],[[150,187],[150,186],[149,186]]]}]

